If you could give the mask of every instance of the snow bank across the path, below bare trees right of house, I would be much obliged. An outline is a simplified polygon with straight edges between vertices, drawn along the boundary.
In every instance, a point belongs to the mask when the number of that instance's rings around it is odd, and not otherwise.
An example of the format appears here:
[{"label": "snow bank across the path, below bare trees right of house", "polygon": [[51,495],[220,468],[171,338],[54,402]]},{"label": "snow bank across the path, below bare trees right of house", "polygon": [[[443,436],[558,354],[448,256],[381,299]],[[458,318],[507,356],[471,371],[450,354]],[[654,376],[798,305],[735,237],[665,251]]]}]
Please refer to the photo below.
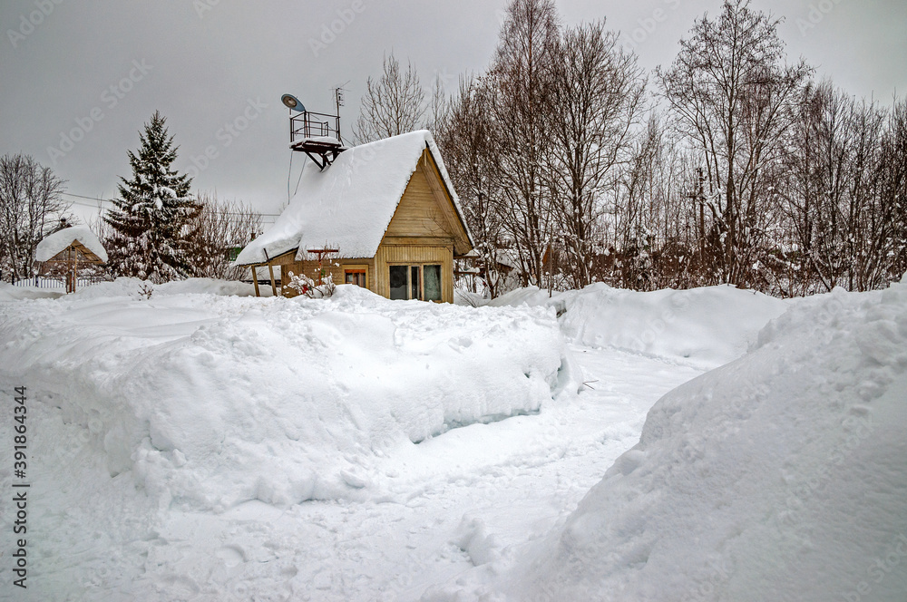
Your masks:
[{"label": "snow bank across the path, below bare trees right of house", "polygon": [[580,345],[615,347],[715,368],[746,353],[789,302],[734,286],[640,293],[604,284],[554,293],[521,288],[492,306],[551,306],[564,335]]}]

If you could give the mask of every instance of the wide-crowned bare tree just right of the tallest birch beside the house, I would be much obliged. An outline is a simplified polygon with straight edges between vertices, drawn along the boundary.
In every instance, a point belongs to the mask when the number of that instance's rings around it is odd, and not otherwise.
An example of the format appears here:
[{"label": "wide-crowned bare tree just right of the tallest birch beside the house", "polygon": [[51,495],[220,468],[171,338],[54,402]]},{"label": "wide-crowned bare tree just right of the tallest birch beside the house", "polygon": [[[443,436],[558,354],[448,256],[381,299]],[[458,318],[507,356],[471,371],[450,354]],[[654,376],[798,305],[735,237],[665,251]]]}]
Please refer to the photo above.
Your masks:
[{"label": "wide-crowned bare tree just right of the tallest birch beside the house", "polygon": [[619,47],[618,35],[603,21],[562,34],[553,63],[548,166],[571,286],[592,281],[602,250],[603,197],[613,194],[618,168],[629,161],[645,87],[636,57]]}]

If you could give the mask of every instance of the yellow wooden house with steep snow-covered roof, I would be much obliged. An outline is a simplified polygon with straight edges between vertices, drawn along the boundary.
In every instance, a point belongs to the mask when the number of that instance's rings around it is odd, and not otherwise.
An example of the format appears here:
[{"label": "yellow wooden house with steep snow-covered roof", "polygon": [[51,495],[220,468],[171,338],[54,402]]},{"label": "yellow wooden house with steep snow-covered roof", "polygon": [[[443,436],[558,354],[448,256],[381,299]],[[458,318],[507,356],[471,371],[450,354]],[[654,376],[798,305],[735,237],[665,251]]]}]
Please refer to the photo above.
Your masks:
[{"label": "yellow wooden house with steep snow-covered roof", "polygon": [[414,131],[345,150],[324,170],[307,162],[287,209],[235,264],[280,266],[287,296],[290,272],[324,270],[390,299],[450,303],[453,258],[472,248],[441,153]]}]

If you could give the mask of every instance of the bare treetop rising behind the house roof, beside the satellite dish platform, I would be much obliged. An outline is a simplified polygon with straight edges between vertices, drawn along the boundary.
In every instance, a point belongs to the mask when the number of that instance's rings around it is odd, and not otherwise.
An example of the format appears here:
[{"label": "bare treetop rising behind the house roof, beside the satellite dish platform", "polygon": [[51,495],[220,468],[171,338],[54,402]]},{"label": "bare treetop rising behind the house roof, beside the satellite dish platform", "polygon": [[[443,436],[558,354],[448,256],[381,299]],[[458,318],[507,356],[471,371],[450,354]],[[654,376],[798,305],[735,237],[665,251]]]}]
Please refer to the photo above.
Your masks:
[{"label": "bare treetop rising behind the house roof, beside the satellite dish platform", "polygon": [[426,110],[425,92],[412,63],[402,72],[392,52],[385,56],[381,77],[377,81],[369,77],[366,82],[354,129],[356,141],[362,144],[414,131]]}]

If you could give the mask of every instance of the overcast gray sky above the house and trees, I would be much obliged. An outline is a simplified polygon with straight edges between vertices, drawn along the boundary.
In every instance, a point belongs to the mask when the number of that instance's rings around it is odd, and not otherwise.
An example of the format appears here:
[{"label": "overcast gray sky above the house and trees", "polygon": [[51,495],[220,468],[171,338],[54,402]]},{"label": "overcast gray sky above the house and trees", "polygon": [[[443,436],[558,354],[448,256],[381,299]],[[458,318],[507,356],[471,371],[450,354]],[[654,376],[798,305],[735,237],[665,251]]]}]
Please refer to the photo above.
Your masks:
[{"label": "overcast gray sky above the house and trees", "polygon": [[[196,189],[277,212],[287,200],[289,167],[283,92],[329,112],[332,88],[348,82],[342,111],[348,136],[366,77],[380,73],[383,53],[409,58],[426,85],[440,73],[453,88],[460,73],[489,63],[506,4],[3,0],[0,155],[30,154],[68,180],[69,192],[110,199],[118,176],[131,175],[126,151],[137,148],[138,131],[158,109],[180,146],[176,167],[199,171]],[[717,14],[721,1],[557,5],[565,24],[606,17],[650,70],[670,63],[693,20]],[[781,34],[791,60],[804,56],[818,77],[884,103],[907,90],[905,0],[753,6],[785,17]],[[199,158],[209,147],[215,158],[205,165]],[[294,182],[300,166],[297,158]],[[92,212],[81,209],[83,216]]]}]

